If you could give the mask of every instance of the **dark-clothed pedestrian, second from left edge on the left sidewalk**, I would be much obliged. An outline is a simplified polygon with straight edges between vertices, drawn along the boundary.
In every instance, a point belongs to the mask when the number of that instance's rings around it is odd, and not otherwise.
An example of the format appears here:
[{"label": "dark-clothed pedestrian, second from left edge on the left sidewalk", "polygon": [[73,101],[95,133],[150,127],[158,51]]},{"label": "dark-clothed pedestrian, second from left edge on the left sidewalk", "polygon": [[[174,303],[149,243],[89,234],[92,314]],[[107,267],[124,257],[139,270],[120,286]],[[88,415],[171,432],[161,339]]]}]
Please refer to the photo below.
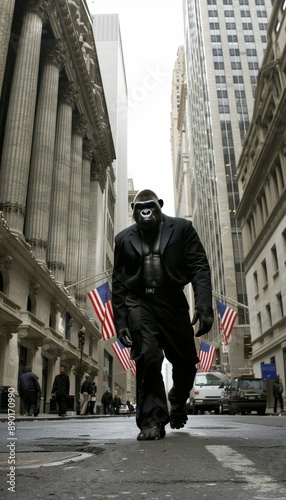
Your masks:
[{"label": "dark-clothed pedestrian, second from left edge on the left sidewalk", "polygon": [[39,384],[39,377],[32,372],[30,366],[26,366],[24,373],[21,375],[18,384],[19,396],[23,402],[24,415],[31,417],[36,415],[36,406],[38,396],[41,396],[42,390]]}]

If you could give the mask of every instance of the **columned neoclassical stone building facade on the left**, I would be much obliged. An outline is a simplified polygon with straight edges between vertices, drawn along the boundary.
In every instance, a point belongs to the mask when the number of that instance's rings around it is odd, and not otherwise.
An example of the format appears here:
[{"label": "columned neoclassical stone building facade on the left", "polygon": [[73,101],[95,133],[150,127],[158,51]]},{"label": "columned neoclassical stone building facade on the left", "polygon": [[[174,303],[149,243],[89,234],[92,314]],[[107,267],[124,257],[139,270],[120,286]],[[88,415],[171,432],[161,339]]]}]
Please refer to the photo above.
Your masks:
[{"label": "columned neoclassical stone building facade on the left", "polygon": [[85,0],[0,0],[0,47],[0,386],[31,365],[49,411],[64,365],[73,409],[81,372],[100,370],[87,278],[112,265],[115,204]]}]

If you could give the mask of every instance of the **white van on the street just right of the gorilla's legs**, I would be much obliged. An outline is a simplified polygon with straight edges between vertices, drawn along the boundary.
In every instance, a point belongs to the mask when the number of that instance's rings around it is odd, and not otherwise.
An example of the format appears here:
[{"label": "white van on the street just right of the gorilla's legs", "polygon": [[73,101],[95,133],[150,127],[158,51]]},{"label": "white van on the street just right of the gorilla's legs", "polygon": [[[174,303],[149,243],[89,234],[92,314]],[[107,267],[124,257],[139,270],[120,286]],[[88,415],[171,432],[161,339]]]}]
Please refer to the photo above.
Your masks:
[{"label": "white van on the street just right of the gorilla's legs", "polygon": [[219,414],[220,398],[230,379],[221,372],[199,372],[196,374],[193,389],[187,402],[189,414],[197,415],[199,411],[214,411]]}]

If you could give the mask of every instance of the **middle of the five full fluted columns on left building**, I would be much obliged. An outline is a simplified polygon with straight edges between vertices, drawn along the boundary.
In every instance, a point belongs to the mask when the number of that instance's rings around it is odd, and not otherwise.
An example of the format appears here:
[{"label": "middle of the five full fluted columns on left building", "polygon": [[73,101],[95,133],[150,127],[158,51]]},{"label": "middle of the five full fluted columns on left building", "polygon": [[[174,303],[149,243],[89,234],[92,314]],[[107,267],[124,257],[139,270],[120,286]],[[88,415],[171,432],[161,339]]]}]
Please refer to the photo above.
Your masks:
[{"label": "middle of the five full fluted columns on left building", "polygon": [[77,93],[72,83],[61,86],[47,249],[48,267],[59,283],[64,283],[65,278],[71,176],[72,110],[76,97]]}]

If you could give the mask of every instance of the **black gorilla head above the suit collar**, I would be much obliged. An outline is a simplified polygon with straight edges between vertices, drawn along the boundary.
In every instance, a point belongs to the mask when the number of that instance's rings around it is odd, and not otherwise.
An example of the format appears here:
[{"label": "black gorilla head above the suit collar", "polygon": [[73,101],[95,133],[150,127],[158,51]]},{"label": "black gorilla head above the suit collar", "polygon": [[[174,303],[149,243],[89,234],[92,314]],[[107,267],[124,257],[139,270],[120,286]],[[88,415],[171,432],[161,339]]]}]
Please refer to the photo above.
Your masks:
[{"label": "black gorilla head above the suit collar", "polygon": [[131,203],[133,217],[141,231],[154,231],[162,222],[163,200],[150,189],[139,191]]}]

